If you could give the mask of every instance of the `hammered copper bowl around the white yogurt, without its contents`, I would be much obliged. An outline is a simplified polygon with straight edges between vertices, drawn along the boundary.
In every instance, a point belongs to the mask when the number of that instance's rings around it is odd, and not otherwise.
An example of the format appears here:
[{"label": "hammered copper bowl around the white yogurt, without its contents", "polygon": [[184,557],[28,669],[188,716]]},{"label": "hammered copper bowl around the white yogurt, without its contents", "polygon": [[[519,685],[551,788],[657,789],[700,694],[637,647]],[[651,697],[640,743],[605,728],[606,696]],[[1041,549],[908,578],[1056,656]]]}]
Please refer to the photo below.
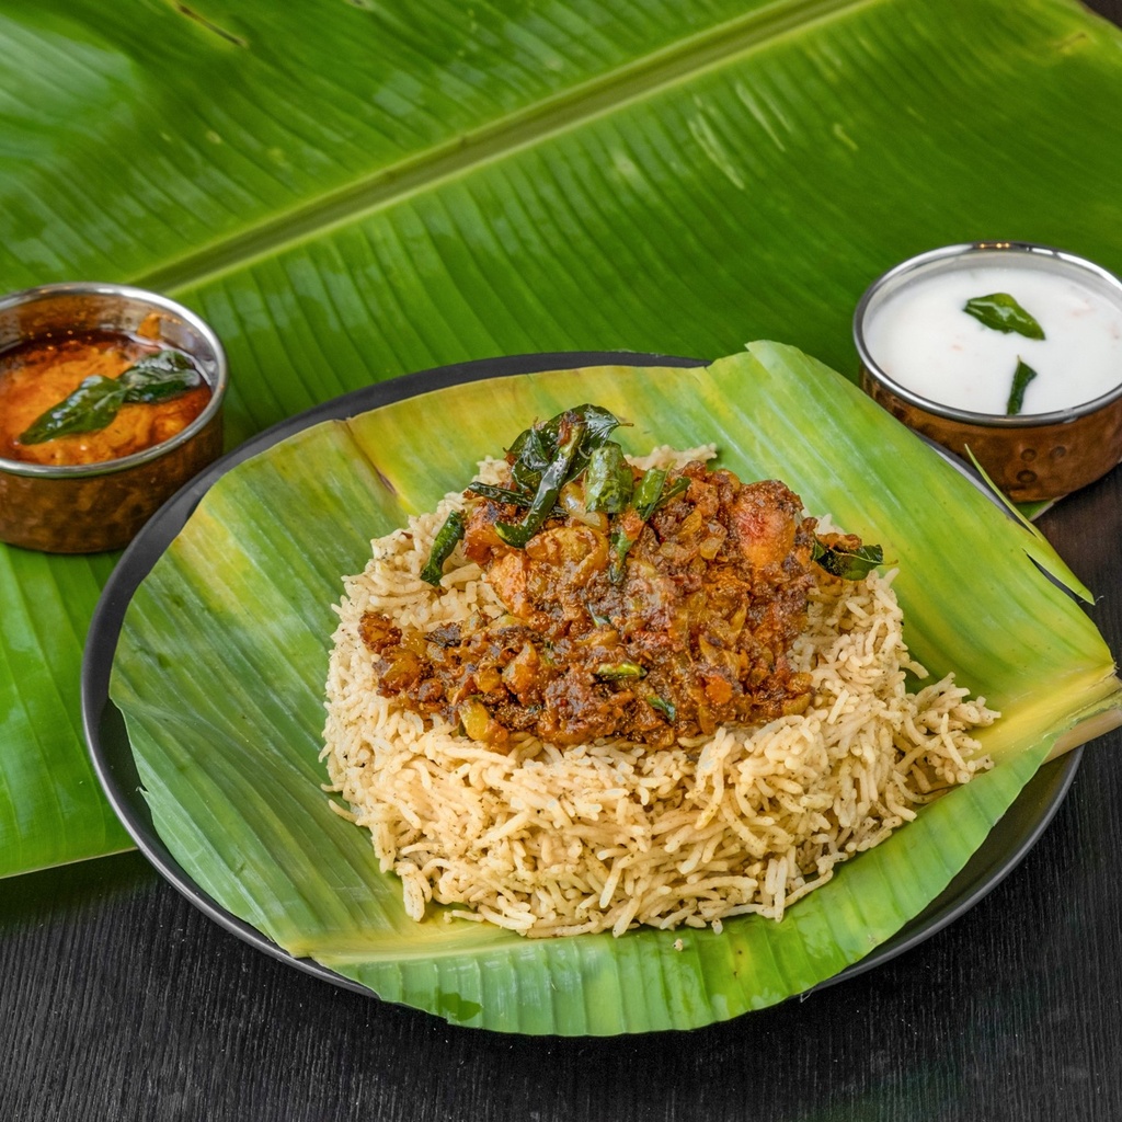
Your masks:
[{"label": "hammered copper bowl around the white yogurt, without its contents", "polygon": [[854,314],[861,386],[910,429],[975,459],[1014,502],[1060,498],[1122,462],[1122,368],[1107,393],[1049,413],[972,413],[923,397],[894,381],[870,353],[866,325],[894,293],[921,277],[980,264],[1029,266],[1079,280],[1122,307],[1122,280],[1092,261],[1032,242],[977,241],[909,258],[877,278]]}]

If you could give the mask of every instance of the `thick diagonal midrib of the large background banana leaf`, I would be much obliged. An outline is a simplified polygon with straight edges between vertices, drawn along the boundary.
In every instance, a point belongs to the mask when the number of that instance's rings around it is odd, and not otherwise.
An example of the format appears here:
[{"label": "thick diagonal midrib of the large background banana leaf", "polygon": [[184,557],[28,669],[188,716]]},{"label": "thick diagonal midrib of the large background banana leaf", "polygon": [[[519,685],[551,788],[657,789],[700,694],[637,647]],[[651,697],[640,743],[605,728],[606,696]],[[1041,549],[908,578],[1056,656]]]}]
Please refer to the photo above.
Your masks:
[{"label": "thick diagonal midrib of the large background banana leaf", "polygon": [[344,187],[275,213],[247,230],[134,276],[130,283],[169,293],[195,287],[689,82],[811,24],[881,2],[883,0],[776,0],[414,153]]}]

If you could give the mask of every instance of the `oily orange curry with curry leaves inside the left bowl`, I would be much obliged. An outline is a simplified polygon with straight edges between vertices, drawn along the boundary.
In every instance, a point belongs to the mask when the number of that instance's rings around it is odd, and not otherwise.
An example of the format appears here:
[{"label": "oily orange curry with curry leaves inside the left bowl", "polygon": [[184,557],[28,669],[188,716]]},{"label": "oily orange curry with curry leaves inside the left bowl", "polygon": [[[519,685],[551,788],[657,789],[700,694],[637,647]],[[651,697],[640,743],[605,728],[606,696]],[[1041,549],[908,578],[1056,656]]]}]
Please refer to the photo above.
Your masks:
[{"label": "oily orange curry with curry leaves inside the left bowl", "polygon": [[182,432],[210,394],[186,355],[142,334],[44,334],[0,353],[0,457],[121,459]]}]

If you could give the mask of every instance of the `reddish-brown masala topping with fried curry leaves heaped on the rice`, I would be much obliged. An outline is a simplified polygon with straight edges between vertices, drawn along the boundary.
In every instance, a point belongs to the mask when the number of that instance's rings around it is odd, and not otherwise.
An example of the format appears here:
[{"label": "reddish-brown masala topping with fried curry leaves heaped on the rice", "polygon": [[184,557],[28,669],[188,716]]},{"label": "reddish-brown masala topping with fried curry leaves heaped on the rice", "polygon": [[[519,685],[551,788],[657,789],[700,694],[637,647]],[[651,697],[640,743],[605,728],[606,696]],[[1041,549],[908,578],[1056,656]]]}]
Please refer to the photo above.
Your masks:
[{"label": "reddish-brown masala topping with fried curry leaves heaped on the rice", "polygon": [[493,745],[518,730],[669,747],[807,707],[787,655],[808,597],[865,576],[879,548],[816,534],[778,480],[632,467],[606,439],[618,423],[567,411],[512,445],[505,486],[468,487],[422,576],[438,583],[462,542],[506,611],[427,632],[367,611],[384,696]]}]

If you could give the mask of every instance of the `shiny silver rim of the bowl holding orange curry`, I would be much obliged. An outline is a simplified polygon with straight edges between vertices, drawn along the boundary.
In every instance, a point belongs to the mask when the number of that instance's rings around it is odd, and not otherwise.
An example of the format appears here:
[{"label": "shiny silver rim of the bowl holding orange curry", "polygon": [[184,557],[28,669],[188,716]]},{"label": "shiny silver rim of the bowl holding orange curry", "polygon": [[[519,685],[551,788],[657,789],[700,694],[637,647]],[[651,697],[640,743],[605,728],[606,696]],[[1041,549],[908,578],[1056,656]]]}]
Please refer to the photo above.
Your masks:
[{"label": "shiny silver rim of the bowl holding orange curry", "polygon": [[22,304],[46,303],[61,296],[121,297],[135,301],[136,303],[148,304],[163,312],[169,312],[172,315],[184,321],[203,339],[214,356],[213,376],[203,374],[210,387],[210,401],[202,413],[184,429],[181,429],[174,436],[168,436],[167,440],[162,440],[158,444],[151,444],[130,456],[121,456],[112,460],[100,460],[95,463],[31,463],[26,460],[10,460],[7,457],[0,456],[0,472],[8,472],[16,476],[34,476],[39,479],[84,479],[127,471],[130,468],[140,467],[141,465],[159,459],[187,443],[197,433],[202,432],[219,414],[230,380],[226,350],[214,329],[196,312],[172,300],[169,296],[165,296],[163,293],[151,292],[148,288],[138,288],[134,285],[117,284],[113,282],[66,280],[57,284],[36,285],[31,288],[21,288],[17,292],[6,293],[3,296],[0,296],[0,313],[19,307]]}]

